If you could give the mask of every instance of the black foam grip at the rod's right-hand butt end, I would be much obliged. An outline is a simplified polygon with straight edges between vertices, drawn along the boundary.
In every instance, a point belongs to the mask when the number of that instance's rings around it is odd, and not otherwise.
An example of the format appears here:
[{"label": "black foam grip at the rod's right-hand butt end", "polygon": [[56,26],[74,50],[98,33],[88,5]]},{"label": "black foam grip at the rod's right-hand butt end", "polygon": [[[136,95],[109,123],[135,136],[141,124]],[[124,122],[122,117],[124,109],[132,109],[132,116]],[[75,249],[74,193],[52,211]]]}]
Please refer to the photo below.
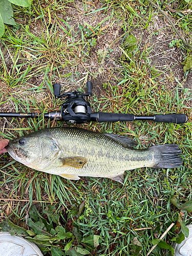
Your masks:
[{"label": "black foam grip at the rod's right-hand butt end", "polygon": [[173,114],[173,115],[154,115],[155,122],[165,123],[186,123],[188,117],[184,114]]}]

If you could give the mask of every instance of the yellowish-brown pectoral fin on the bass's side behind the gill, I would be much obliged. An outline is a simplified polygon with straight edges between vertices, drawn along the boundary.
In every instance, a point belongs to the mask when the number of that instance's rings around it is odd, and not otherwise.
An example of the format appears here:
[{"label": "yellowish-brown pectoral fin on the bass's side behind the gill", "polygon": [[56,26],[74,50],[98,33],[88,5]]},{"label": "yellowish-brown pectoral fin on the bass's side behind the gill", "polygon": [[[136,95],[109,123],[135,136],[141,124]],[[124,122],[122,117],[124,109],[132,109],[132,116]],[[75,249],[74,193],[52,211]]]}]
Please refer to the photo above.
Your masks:
[{"label": "yellowish-brown pectoral fin on the bass's side behind the gill", "polygon": [[77,169],[82,168],[87,163],[87,158],[85,157],[65,157],[59,158],[62,162],[61,167],[74,167]]}]

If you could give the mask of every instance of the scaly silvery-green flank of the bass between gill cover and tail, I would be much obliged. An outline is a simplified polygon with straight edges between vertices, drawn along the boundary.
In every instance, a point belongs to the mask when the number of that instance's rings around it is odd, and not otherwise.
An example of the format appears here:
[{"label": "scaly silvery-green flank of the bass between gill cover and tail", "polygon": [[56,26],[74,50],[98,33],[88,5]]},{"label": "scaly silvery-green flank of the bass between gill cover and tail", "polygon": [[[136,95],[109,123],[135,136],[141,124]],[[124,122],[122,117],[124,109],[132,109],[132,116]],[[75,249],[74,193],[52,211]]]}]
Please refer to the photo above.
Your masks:
[{"label": "scaly silvery-green flank of the bass between gill cover and tail", "polygon": [[[63,134],[65,135],[63,136]],[[78,174],[76,168],[66,168],[64,170],[65,174],[77,174],[78,176],[91,177],[115,177],[119,172],[120,174],[123,173],[125,169],[129,170],[143,166],[144,161],[147,161],[149,164],[150,154],[148,154],[147,151],[143,152],[125,148],[121,142],[106,137],[104,134],[92,133],[87,130],[69,130],[63,128],[59,130],[59,133],[57,133],[57,130],[54,130],[52,136],[56,140],[58,140],[59,137],[63,137],[63,140],[60,141],[63,157],[78,155],[88,159],[87,165],[79,169]],[[77,151],[76,148],[78,148]],[[127,162],[129,164],[127,164]],[[150,165],[152,166],[153,164],[154,161],[151,157]],[[63,174],[63,169],[60,170],[59,162],[58,165],[47,167],[45,172],[51,173],[53,168],[55,168],[54,173]]]}]

